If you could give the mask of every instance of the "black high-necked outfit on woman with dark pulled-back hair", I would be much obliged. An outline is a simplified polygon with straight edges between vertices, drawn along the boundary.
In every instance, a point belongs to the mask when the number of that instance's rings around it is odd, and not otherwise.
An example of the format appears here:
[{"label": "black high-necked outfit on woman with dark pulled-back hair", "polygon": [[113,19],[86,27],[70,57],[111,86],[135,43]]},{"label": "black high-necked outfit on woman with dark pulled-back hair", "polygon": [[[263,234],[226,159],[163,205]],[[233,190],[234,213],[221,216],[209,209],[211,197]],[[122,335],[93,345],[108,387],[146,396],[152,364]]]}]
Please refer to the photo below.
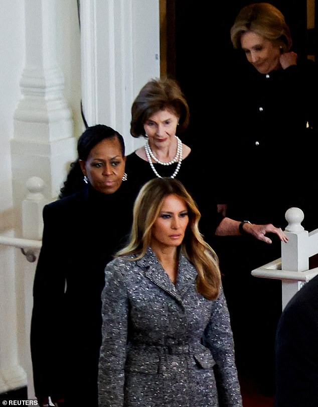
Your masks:
[{"label": "black high-necked outfit on woman with dark pulled-back hair", "polygon": [[91,186],[43,211],[34,280],[31,354],[35,394],[97,406],[104,268],[130,231],[135,193]]}]

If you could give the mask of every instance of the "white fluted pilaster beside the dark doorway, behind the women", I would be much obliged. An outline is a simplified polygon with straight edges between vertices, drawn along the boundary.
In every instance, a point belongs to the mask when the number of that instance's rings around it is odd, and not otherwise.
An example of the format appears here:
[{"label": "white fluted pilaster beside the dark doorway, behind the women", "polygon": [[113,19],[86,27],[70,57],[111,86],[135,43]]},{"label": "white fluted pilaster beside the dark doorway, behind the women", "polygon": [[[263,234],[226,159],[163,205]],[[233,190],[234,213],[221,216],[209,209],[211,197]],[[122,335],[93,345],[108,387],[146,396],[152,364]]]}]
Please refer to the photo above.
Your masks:
[{"label": "white fluted pilaster beside the dark doorway, behind the women", "polygon": [[143,144],[129,132],[132,101],[150,78],[160,77],[159,1],[85,0],[80,16],[87,123],[119,131],[129,154]]}]

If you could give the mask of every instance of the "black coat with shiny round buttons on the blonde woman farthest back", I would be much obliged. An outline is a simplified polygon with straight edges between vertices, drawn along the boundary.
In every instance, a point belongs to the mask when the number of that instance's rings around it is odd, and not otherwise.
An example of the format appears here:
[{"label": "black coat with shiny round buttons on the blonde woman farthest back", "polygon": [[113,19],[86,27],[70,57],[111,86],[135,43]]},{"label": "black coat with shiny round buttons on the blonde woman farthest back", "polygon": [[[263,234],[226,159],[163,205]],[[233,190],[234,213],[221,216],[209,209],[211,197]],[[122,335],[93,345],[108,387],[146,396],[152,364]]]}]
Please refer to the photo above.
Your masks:
[{"label": "black coat with shiny round buttons on the blonde woman farthest back", "polygon": [[317,80],[311,61],[268,75],[246,62],[233,73],[224,111],[224,151],[232,165],[228,216],[284,229],[286,210],[296,206],[305,213],[306,229],[316,227],[308,180],[315,170]]}]

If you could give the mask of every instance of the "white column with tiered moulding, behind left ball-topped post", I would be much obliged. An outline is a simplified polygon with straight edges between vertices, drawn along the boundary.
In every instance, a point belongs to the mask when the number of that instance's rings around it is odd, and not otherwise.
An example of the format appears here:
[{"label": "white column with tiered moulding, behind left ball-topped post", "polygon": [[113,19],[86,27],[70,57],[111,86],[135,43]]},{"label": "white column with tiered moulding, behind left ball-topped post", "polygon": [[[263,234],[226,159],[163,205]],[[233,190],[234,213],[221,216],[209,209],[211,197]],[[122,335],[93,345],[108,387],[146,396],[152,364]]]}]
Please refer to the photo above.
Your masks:
[{"label": "white column with tiered moulding, behind left ball-topped post", "polygon": [[25,0],[25,20],[22,98],[11,141],[14,199],[19,204],[32,176],[41,176],[45,195],[55,198],[76,156],[72,113],[63,97],[64,76],[57,64],[56,1]]}]

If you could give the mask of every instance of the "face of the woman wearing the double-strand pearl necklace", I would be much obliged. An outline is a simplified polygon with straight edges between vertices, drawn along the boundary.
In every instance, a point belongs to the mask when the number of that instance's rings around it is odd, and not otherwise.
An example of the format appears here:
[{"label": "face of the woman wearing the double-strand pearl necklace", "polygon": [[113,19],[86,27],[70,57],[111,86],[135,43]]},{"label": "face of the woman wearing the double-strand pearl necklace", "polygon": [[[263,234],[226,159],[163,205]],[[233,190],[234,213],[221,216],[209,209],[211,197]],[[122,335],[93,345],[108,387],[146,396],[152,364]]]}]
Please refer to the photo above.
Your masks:
[{"label": "face of the woman wearing the double-strand pearl necklace", "polygon": [[149,117],[143,128],[149,143],[156,147],[167,147],[176,135],[179,117],[171,109],[160,110]]}]

